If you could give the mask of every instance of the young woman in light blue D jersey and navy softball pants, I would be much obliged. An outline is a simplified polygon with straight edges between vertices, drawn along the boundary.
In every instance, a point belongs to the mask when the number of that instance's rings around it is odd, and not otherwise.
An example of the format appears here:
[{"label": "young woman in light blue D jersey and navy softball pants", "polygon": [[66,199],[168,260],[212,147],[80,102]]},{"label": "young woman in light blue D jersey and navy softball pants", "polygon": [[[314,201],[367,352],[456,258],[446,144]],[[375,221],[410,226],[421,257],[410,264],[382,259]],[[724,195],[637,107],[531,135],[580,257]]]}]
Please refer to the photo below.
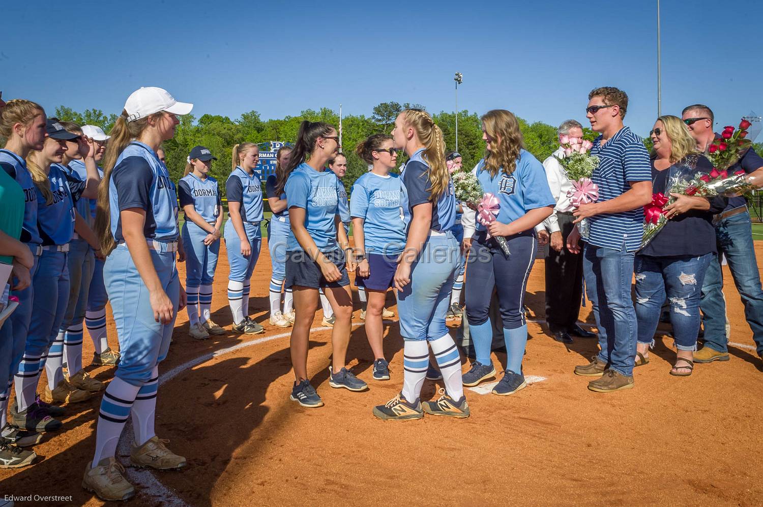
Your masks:
[{"label": "young woman in light blue D jersey and navy softball pants", "polygon": [[[478,162],[475,174],[482,191],[493,194],[498,210],[491,223],[477,223],[469,257],[466,318],[477,357],[464,374],[464,385],[476,386],[495,375],[489,317],[495,288],[504,327],[506,370],[493,393],[507,396],[526,386],[522,359],[527,322],[522,309],[538,248],[534,227],[549,217],[555,201],[543,165],[524,149],[517,117],[505,109],[494,109],[482,115],[481,122],[485,157]],[[507,249],[497,242],[500,236]]]}]

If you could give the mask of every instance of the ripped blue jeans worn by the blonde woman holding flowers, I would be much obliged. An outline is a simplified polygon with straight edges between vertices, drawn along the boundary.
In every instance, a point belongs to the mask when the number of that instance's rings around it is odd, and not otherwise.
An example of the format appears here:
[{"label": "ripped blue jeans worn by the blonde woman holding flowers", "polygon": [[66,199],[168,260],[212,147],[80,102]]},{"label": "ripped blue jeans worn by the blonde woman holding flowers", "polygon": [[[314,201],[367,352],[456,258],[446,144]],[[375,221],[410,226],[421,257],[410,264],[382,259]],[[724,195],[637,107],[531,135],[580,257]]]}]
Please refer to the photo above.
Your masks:
[{"label": "ripped blue jeans worn by the blonde woman holding flowers", "polygon": [[665,297],[670,303],[675,347],[697,350],[700,297],[712,253],[700,256],[636,255],[636,319],[639,343],[652,345]]}]

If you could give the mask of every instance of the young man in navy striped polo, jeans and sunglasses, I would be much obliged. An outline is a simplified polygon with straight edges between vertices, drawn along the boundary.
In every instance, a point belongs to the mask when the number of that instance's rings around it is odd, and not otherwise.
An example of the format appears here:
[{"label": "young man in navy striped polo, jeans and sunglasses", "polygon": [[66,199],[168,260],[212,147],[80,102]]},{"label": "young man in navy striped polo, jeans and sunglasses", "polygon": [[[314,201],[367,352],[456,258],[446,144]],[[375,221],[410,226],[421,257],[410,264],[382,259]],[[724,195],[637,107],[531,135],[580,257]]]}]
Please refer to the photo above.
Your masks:
[{"label": "young man in navy striped polo, jeans and sunglasses", "polygon": [[[630,297],[633,261],[641,245],[644,213],[652,202],[652,168],[639,136],[623,127],[628,95],[617,88],[596,88],[588,94],[586,117],[599,132],[591,155],[599,166],[591,179],[599,199],[575,211],[575,223],[588,219],[583,276],[588,299],[599,329],[601,351],[590,364],[575,367],[575,374],[601,377],[588,389],[611,393],[633,387],[636,357],[636,310]],[[568,236],[567,247],[579,252],[578,229]]]}]

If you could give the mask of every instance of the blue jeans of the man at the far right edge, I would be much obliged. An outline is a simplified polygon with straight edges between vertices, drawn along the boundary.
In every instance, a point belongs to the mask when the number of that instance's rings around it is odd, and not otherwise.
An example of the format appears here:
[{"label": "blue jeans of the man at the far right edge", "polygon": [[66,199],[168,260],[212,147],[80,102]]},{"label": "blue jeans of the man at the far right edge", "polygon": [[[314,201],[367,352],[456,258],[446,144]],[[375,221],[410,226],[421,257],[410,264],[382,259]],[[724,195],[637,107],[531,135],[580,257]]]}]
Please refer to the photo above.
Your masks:
[{"label": "blue jeans of the man at the far right edge", "polygon": [[[763,290],[752,243],[750,214],[739,213],[716,225],[718,251],[726,255],[736,290],[745,305],[745,319],[752,329],[758,355],[763,357]],[[720,258],[720,253],[719,253]],[[705,346],[727,352],[726,301],[723,300],[723,271],[720,262],[710,262],[702,286],[700,309],[705,326]]]}]

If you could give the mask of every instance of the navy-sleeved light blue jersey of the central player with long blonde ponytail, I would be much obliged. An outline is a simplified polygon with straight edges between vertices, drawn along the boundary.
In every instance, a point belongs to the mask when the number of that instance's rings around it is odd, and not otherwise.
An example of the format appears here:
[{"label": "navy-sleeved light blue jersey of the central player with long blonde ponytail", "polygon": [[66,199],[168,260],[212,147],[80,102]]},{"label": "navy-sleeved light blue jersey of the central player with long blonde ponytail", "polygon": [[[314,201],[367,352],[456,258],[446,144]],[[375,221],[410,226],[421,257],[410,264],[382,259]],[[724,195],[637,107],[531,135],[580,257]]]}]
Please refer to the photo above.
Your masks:
[{"label": "navy-sleeved light blue jersey of the central player with long blonde ponytail", "polygon": [[[403,207],[406,226],[410,225],[414,207],[418,204],[432,202],[432,185],[429,177],[429,164],[423,159],[424,149],[410,156],[402,173],[403,185],[407,197],[407,206]],[[443,194],[432,202],[431,229],[445,232],[456,223],[456,191],[453,182],[449,181]]]}]

